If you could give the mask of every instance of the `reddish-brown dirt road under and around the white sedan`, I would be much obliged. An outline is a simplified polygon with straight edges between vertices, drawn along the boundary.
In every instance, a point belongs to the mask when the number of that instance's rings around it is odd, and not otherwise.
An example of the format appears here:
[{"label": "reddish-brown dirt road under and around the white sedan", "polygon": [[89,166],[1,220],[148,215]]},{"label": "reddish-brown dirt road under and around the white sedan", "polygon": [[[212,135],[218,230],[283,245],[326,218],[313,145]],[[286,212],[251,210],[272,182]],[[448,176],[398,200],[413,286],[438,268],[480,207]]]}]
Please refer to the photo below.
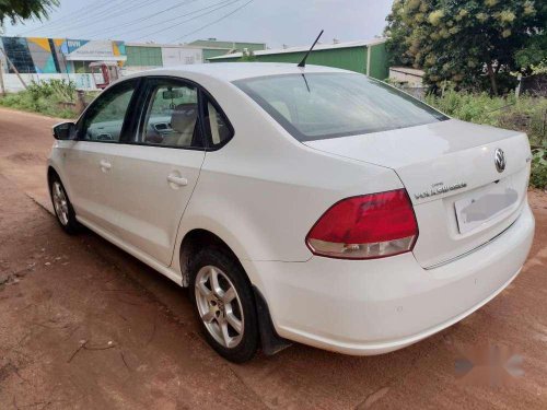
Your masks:
[{"label": "reddish-brown dirt road under and around the white sedan", "polygon": [[[65,235],[40,206],[55,122],[0,110],[0,409],[547,408],[547,195],[529,196],[521,276],[450,329],[381,356],[294,345],[233,365],[185,290],[92,233]],[[511,349],[524,374],[458,377],[482,344]]]}]

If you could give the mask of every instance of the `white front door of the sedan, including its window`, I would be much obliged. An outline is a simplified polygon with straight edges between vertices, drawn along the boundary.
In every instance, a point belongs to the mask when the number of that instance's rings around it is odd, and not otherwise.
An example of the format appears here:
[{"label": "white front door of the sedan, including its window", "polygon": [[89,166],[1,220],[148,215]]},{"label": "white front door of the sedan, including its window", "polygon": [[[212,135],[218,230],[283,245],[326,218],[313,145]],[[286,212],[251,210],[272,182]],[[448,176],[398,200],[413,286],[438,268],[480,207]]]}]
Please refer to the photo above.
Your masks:
[{"label": "white front door of the sedan, including its window", "polygon": [[66,178],[78,216],[116,232],[115,152],[127,130],[138,80],[124,81],[101,94],[78,122],[78,140],[63,152]]}]

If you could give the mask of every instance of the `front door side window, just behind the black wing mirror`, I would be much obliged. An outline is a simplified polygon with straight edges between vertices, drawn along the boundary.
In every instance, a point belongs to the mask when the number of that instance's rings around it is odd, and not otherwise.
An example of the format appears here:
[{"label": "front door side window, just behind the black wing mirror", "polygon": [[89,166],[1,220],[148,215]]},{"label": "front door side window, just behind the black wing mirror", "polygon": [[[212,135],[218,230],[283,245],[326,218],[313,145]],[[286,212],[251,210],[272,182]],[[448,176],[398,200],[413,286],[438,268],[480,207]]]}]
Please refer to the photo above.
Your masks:
[{"label": "front door side window, just behind the black wing mirror", "polygon": [[100,95],[83,117],[80,139],[118,142],[136,81],[125,81]]}]

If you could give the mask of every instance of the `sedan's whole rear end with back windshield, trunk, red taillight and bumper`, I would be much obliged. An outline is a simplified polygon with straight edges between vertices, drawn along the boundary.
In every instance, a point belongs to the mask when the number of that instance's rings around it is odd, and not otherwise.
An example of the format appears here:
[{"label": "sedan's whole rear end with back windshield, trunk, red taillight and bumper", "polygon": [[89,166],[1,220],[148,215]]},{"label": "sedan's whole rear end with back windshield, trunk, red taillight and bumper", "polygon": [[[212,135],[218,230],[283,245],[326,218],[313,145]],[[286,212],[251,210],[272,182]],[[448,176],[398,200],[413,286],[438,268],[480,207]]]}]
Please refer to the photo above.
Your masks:
[{"label": "sedan's whole rear end with back windshield, trunk, red taillight and bumper", "polygon": [[238,86],[318,155],[389,168],[400,187],[311,209],[307,261],[243,263],[259,272],[280,336],[384,353],[461,320],[517,276],[534,234],[529,145],[360,75],[321,75]]}]

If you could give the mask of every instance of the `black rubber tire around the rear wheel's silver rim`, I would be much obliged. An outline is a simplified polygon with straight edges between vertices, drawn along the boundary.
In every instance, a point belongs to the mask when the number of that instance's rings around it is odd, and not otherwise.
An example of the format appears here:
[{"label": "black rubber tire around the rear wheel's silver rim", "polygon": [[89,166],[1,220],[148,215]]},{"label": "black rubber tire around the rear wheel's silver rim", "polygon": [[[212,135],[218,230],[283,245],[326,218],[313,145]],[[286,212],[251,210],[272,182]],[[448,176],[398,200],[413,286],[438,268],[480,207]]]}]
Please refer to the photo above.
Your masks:
[{"label": "black rubber tire around the rear wheel's silver rim", "polygon": [[[241,335],[241,340],[233,348],[228,348],[221,344],[216,340],[211,331],[207,328],[206,323],[201,318],[198,302],[196,297],[196,278],[198,272],[206,267],[214,267],[220,269],[221,273],[225,274],[230,280],[230,284],[232,285],[238,297],[238,304],[242,308],[243,314],[243,333]],[[253,294],[253,290],[251,288],[251,283],[243,271],[243,268],[240,263],[234,260],[234,257],[230,255],[230,253],[223,250],[220,247],[207,247],[201,249],[190,261],[189,266],[190,273],[190,285],[189,285],[189,295],[193,301],[196,315],[198,317],[199,324],[201,326],[201,330],[207,339],[207,342],[224,359],[234,362],[234,363],[243,363],[251,360],[257,349],[259,343],[259,333],[258,333],[258,318],[256,313],[255,298]],[[212,289],[212,286],[210,286]],[[199,297],[199,296],[198,296]],[[237,302],[237,300],[234,298]],[[232,305],[232,304],[231,304]],[[213,319],[217,320],[217,319]],[[211,321],[214,324],[214,321]],[[220,326],[220,323],[217,320],[217,325]]]}]

